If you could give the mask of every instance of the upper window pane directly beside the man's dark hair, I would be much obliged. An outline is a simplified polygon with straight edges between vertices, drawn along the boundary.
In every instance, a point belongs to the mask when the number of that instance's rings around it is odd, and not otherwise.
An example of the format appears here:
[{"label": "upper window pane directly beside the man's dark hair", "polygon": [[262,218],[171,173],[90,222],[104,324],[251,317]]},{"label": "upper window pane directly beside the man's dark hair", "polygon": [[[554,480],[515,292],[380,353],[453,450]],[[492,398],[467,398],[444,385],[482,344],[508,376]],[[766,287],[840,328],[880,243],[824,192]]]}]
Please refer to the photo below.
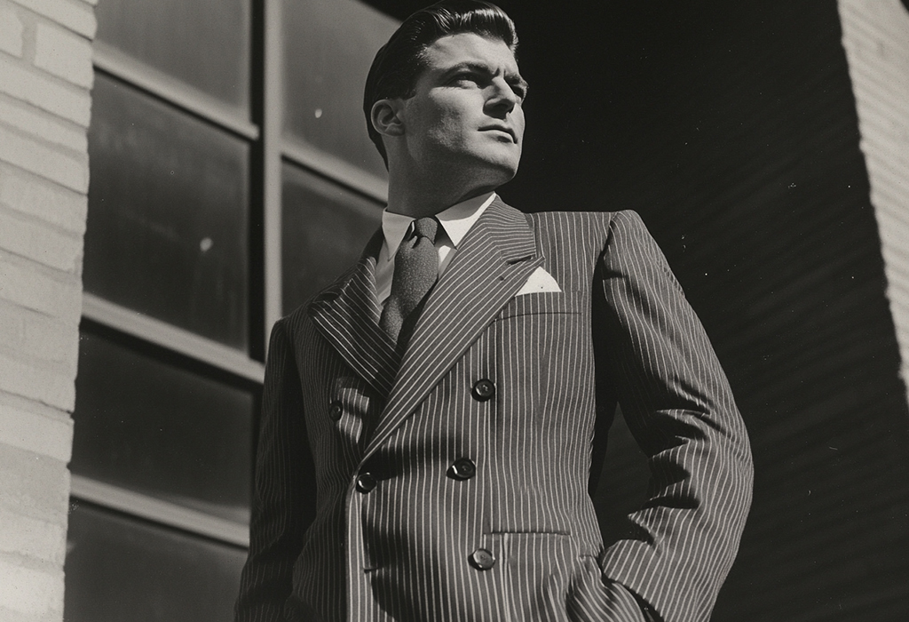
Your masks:
[{"label": "upper window pane directly beside the man's dark hair", "polygon": [[363,86],[397,22],[355,0],[285,0],[285,133],[385,179]]}]

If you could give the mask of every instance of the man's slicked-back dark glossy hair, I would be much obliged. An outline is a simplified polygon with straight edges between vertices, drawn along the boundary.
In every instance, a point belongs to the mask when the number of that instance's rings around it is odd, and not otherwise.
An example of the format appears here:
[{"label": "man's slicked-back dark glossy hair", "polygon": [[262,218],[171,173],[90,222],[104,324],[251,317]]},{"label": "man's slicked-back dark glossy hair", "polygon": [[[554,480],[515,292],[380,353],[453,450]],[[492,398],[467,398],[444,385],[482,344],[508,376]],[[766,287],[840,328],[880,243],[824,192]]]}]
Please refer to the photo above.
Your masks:
[{"label": "man's slicked-back dark glossy hair", "polygon": [[380,99],[414,95],[416,79],[425,68],[425,49],[436,39],[461,33],[499,39],[512,54],[517,54],[517,33],[511,17],[498,6],[482,0],[442,0],[420,9],[405,19],[375,54],[366,77],[363,112],[369,137],[385,160],[385,166],[388,156],[382,135],[373,127],[373,105]]}]

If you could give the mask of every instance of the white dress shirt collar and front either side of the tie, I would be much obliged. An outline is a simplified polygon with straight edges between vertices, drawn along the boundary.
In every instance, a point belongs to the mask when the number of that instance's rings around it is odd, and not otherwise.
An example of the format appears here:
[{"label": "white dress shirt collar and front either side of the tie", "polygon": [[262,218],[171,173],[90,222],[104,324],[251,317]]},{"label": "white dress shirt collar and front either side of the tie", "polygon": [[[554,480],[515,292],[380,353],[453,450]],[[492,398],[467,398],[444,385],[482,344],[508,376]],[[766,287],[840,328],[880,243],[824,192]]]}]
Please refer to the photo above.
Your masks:
[{"label": "white dress shirt collar and front either side of the tie", "polygon": [[[435,218],[442,226],[442,230],[435,237],[435,250],[439,254],[439,276],[445,272],[445,268],[451,263],[457,252],[457,246],[467,235],[476,220],[483,214],[486,207],[493,202],[495,193],[490,192],[474,198],[467,199],[454,206],[448,207],[442,212],[435,215]],[[385,240],[382,243],[382,250],[379,251],[379,259],[375,265],[375,295],[378,298],[379,305],[385,306],[385,300],[392,291],[392,278],[395,276],[395,255],[398,246],[404,240],[407,229],[414,222],[415,218],[395,214],[389,209],[394,206],[388,206],[382,212],[382,233]],[[444,234],[444,235],[443,235]]]}]

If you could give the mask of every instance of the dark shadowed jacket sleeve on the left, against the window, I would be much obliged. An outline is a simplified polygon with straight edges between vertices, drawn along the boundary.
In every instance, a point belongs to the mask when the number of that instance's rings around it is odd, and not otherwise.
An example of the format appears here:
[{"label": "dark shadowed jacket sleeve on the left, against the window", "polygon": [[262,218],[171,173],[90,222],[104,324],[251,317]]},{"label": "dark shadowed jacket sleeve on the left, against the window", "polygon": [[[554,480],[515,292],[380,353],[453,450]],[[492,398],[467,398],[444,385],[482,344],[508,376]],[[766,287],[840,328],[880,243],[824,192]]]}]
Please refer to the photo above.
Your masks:
[{"label": "dark shadowed jacket sleeve on the left, against the window", "polygon": [[313,520],[315,475],[303,396],[284,321],[272,329],[255,457],[249,557],[235,622],[285,619],[293,567]]}]

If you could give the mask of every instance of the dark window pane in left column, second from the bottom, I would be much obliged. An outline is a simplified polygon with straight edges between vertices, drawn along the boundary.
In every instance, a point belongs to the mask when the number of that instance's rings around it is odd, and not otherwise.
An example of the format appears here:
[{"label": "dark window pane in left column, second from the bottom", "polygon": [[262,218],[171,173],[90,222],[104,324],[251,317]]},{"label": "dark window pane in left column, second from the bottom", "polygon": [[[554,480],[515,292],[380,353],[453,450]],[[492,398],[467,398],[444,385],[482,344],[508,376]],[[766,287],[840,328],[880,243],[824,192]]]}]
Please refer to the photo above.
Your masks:
[{"label": "dark window pane in left column, second from the bottom", "polygon": [[75,474],[245,523],[254,395],[83,332]]}]

